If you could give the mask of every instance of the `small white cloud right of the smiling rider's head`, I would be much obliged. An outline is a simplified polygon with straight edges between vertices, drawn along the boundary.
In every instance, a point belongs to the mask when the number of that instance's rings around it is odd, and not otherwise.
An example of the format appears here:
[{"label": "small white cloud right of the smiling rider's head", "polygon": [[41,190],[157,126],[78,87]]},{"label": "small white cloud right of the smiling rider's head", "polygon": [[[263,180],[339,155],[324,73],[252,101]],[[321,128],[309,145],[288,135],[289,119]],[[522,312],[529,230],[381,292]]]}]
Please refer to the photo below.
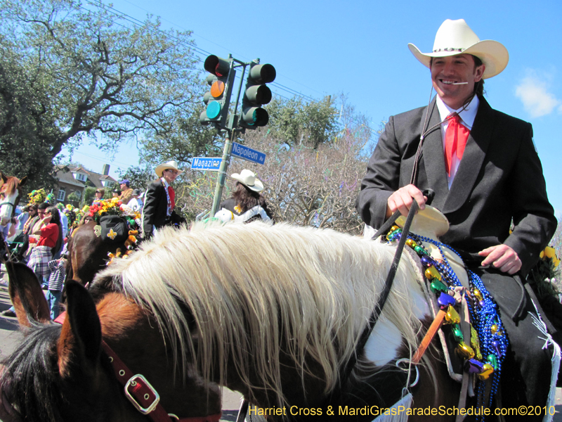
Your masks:
[{"label": "small white cloud right of the smiling rider's head", "polygon": [[544,75],[540,77],[537,72],[529,74],[521,79],[515,89],[516,96],[523,102],[523,107],[531,117],[540,117],[552,113],[556,108],[558,113],[562,113],[562,102],[549,92],[550,77]]}]

